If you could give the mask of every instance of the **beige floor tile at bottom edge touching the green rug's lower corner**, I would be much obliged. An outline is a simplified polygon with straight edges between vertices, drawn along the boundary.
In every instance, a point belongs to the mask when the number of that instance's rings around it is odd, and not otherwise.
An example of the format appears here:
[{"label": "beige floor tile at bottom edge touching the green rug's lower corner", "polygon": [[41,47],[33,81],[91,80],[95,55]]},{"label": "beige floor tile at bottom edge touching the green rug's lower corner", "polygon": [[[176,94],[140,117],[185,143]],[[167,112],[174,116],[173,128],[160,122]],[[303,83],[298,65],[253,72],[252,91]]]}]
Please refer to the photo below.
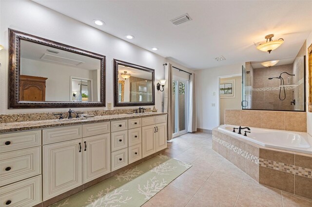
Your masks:
[{"label": "beige floor tile at bottom edge touching the green rug's lower corner", "polygon": [[142,207],[184,207],[191,198],[192,195],[169,185],[158,192]]}]

